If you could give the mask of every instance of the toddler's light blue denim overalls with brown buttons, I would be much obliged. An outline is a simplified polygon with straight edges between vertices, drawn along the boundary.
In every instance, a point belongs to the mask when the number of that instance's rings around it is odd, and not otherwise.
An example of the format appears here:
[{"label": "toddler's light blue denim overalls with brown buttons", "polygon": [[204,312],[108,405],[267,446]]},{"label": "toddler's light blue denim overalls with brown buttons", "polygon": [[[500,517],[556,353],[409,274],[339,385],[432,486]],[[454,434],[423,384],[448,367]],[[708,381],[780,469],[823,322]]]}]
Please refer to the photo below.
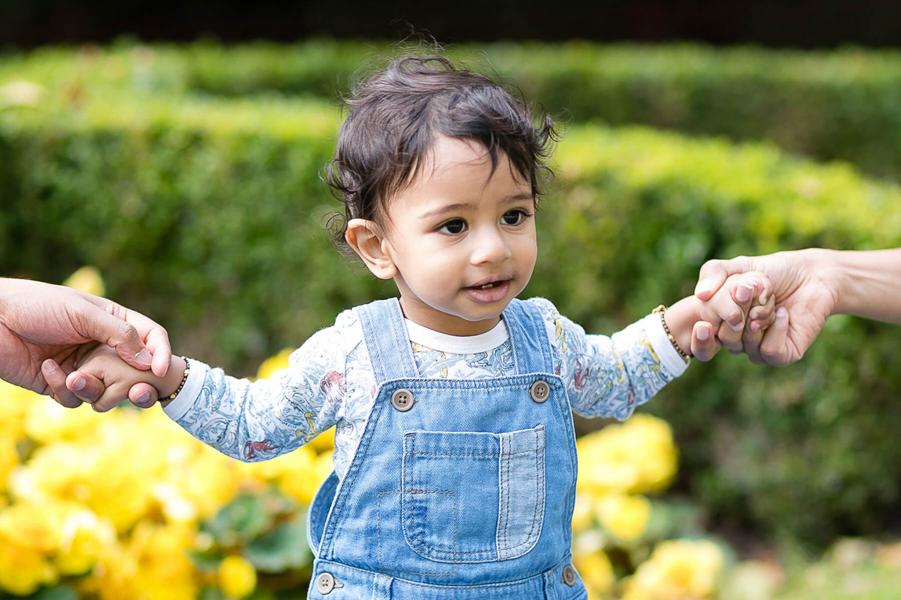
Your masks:
[{"label": "toddler's light blue denim overalls with brown buttons", "polygon": [[423,379],[396,299],[356,309],[378,393],[350,468],[308,515],[310,598],[581,600],[576,442],[531,304],[504,311],[517,375]]}]

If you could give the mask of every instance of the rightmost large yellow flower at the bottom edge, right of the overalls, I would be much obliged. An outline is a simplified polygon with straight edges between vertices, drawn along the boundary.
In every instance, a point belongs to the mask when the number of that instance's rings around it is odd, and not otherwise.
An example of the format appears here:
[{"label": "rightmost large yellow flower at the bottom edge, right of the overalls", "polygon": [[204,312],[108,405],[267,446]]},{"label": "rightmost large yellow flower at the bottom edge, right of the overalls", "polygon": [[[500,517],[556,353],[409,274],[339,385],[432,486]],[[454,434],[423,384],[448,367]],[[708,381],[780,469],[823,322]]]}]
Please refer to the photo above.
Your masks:
[{"label": "rightmost large yellow flower at the bottom edge, right of the overalls", "polygon": [[712,598],[723,562],[714,542],[661,542],[626,582],[623,600]]}]

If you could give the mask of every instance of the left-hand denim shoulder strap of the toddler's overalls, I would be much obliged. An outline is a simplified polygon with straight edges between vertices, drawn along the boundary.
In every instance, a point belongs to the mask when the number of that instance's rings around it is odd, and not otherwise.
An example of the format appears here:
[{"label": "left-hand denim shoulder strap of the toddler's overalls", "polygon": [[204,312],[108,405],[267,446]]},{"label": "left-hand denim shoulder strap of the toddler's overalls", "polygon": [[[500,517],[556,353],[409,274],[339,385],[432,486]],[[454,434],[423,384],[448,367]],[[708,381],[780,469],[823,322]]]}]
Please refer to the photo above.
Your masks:
[{"label": "left-hand denim shoulder strap of the toddler's overalls", "polygon": [[376,381],[418,377],[400,302],[396,298],[376,300],[353,311],[363,327]]}]

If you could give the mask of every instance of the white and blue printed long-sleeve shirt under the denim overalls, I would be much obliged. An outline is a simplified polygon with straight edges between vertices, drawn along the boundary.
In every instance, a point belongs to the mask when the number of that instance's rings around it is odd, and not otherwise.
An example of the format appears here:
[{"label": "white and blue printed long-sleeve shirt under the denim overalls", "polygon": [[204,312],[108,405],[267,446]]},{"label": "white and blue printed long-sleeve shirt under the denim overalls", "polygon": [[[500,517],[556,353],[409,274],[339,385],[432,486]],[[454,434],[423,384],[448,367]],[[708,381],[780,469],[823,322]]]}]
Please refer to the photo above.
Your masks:
[{"label": "white and blue printed long-sleeve shirt under the denim overalls", "polygon": [[[542,311],[556,372],[580,415],[625,419],[687,368],[656,314],[613,336],[596,336],[562,317],[550,301],[526,301]],[[487,333],[467,337],[405,323],[422,377],[515,374],[503,319]],[[343,479],[378,389],[352,310],[311,336],[291,354],[287,369],[266,380],[235,379],[193,359],[190,366],[185,386],[165,408],[188,433],[234,458],[262,461],[335,425],[333,460]]]}]

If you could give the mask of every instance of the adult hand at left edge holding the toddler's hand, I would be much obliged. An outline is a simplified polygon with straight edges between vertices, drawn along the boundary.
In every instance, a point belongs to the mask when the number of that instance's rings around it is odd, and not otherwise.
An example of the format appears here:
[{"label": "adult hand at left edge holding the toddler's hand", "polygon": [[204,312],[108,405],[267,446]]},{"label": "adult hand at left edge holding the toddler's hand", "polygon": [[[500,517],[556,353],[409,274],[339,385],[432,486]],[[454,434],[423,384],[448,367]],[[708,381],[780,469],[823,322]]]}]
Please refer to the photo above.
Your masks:
[{"label": "adult hand at left edge holding the toddler's hand", "polygon": [[[162,376],[172,356],[163,327],[111,300],[50,283],[0,278],[0,379],[53,396],[65,407],[93,401],[101,381],[77,373],[77,352],[100,342],[126,363]],[[129,391],[136,406],[148,407],[157,392],[147,384]]]}]

